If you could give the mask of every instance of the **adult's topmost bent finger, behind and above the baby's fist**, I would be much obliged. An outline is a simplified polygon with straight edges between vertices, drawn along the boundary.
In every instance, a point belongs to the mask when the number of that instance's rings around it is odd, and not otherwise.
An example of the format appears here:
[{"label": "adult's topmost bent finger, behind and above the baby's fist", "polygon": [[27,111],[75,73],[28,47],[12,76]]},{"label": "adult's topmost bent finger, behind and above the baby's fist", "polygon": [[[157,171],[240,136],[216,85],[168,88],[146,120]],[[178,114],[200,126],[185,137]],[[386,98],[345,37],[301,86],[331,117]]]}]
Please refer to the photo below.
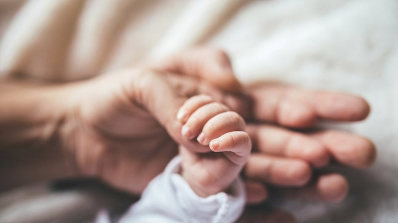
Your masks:
[{"label": "adult's topmost bent finger, behind and above the baby's fist", "polygon": [[195,76],[226,91],[239,92],[241,84],[234,76],[228,55],[214,48],[198,48],[154,63],[156,69]]}]

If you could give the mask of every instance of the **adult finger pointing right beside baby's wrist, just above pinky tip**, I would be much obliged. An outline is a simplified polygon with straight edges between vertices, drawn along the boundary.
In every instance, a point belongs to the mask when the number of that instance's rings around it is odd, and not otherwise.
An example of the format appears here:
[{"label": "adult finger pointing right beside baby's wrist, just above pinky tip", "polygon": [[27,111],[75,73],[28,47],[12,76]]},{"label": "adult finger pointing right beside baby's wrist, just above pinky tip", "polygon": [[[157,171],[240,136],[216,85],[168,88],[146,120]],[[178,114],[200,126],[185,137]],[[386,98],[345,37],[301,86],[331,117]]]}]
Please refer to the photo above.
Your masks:
[{"label": "adult finger pointing right beside baby's wrist, just above pinky tip", "polygon": [[300,159],[254,153],[243,173],[248,179],[275,185],[303,186],[310,180],[312,169],[307,162]]}]

